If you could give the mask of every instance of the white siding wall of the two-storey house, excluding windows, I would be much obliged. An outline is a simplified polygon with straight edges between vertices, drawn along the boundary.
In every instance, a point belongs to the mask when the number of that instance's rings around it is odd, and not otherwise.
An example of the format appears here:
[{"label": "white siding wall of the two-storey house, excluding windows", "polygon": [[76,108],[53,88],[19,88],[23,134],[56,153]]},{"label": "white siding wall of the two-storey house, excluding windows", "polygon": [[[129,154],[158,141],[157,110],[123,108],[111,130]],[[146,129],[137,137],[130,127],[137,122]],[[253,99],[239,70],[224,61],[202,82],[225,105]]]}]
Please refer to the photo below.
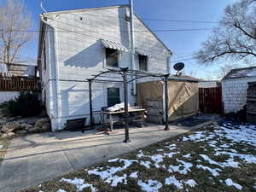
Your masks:
[{"label": "white siding wall of the two-storey house, excluding windows", "polygon": [[[89,122],[89,84],[84,82],[100,71],[107,69],[105,48],[101,38],[130,47],[130,23],[125,20],[129,15],[127,7],[108,9],[87,9],[82,12],[65,12],[63,14],[46,14],[55,32],[48,32],[49,49],[49,85],[45,86],[47,96],[47,112],[52,120],[52,129],[63,129],[67,119],[86,117]],[[51,20],[52,19],[52,20]],[[154,37],[140,20],[135,17],[135,47],[148,51],[148,71],[152,73],[168,73],[168,50]],[[54,34],[54,36],[53,36]],[[53,36],[53,37],[51,37]],[[53,59],[54,58],[54,59]],[[138,62],[138,60],[136,59]],[[137,63],[138,66],[138,63]],[[55,70],[57,67],[57,70]],[[129,52],[119,56],[119,67],[131,68]],[[44,74],[43,74],[44,76]],[[111,75],[113,77],[113,75]],[[47,78],[44,78],[46,82]],[[59,91],[55,81],[57,80]],[[113,79],[113,78],[111,78]],[[121,79],[114,79],[121,80]],[[120,99],[123,100],[122,84],[92,84],[93,111],[100,111],[107,106],[107,88],[118,87]],[[136,96],[131,94],[132,85],[128,85],[129,103],[136,103]],[[43,90],[44,92],[44,90]],[[57,94],[59,92],[59,94]],[[95,115],[96,122],[100,115]]]}]

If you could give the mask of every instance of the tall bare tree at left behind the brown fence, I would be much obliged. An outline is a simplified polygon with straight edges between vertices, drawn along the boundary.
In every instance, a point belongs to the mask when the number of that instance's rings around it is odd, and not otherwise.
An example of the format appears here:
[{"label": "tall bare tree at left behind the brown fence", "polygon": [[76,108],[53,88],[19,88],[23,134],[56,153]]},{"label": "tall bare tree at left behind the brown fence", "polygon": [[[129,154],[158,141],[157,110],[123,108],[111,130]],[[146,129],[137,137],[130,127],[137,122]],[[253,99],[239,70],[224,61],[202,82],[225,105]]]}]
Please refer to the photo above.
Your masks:
[{"label": "tall bare tree at left behind the brown fence", "polygon": [[18,61],[20,50],[32,38],[32,33],[27,32],[31,26],[32,15],[22,1],[7,0],[0,4],[0,62]]}]

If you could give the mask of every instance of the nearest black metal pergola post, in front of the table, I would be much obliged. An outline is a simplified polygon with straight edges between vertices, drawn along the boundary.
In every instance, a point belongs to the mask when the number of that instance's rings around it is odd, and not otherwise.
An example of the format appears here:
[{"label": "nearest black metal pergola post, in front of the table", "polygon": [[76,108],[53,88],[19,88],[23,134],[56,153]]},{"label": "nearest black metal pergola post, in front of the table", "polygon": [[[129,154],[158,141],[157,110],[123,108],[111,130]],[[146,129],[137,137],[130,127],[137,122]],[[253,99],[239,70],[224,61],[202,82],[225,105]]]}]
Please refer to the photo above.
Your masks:
[{"label": "nearest black metal pergola post, in front of the table", "polygon": [[128,125],[128,118],[129,118],[129,113],[128,113],[128,87],[127,87],[127,68],[121,68],[123,72],[123,79],[124,79],[124,102],[125,102],[125,140],[124,143],[130,143],[129,139],[129,125]]}]

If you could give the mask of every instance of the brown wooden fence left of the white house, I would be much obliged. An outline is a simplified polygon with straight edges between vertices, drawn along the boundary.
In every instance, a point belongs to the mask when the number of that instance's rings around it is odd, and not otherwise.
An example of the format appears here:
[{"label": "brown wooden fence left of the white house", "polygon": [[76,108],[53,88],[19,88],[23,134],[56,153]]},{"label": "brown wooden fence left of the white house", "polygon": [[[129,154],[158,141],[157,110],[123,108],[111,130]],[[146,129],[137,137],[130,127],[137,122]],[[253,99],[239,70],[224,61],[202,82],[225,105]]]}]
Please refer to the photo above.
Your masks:
[{"label": "brown wooden fence left of the white house", "polygon": [[0,91],[40,91],[38,78],[0,77]]}]

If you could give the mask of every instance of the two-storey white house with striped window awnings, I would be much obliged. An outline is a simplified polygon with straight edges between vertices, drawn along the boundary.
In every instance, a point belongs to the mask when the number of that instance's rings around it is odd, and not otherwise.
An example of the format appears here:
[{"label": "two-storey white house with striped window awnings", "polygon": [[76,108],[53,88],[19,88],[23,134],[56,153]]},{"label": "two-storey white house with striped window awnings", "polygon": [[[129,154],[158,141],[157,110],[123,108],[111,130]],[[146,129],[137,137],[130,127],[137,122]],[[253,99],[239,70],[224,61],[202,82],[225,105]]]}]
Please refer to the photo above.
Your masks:
[{"label": "two-storey white house with striped window awnings", "polygon": [[[86,79],[108,68],[132,68],[129,15],[130,9],[126,5],[40,15],[38,67],[42,99],[53,131],[63,129],[68,119],[87,118],[87,124],[90,123]],[[135,69],[169,73],[172,52],[143,20],[133,16]],[[100,121],[97,113],[102,107],[123,101],[122,86],[92,84],[96,122]],[[137,102],[133,93],[134,84],[129,84],[131,105]]]}]

